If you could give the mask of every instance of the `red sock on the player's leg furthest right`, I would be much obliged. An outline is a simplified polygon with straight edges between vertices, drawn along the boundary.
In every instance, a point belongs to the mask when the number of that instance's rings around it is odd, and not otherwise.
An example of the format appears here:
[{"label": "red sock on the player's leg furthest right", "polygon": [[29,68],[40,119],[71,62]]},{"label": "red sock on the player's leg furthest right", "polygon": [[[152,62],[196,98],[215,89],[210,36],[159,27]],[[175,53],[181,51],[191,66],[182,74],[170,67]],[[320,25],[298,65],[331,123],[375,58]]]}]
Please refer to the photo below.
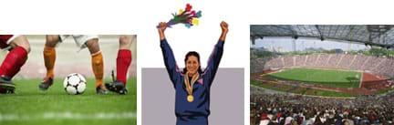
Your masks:
[{"label": "red sock on the player's leg furthest right", "polygon": [[119,49],[117,58],[117,80],[126,84],[127,72],[131,63],[131,51]]}]

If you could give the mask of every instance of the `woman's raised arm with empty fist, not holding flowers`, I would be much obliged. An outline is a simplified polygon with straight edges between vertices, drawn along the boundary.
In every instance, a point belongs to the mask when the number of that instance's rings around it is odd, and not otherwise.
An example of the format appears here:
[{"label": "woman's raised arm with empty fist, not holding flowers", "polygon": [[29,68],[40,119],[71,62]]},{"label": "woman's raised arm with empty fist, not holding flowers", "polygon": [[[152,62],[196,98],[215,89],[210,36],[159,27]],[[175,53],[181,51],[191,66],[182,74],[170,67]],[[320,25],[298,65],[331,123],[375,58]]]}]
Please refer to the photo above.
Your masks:
[{"label": "woman's raised arm with empty fist, not holding flowers", "polygon": [[213,52],[208,60],[208,66],[203,72],[204,76],[208,80],[209,86],[212,85],[213,78],[216,74],[217,69],[219,68],[219,63],[223,56],[224,40],[228,32],[228,25],[226,22],[222,21],[220,26],[222,27],[222,34],[219,37],[218,43],[215,45],[215,47],[213,47]]}]

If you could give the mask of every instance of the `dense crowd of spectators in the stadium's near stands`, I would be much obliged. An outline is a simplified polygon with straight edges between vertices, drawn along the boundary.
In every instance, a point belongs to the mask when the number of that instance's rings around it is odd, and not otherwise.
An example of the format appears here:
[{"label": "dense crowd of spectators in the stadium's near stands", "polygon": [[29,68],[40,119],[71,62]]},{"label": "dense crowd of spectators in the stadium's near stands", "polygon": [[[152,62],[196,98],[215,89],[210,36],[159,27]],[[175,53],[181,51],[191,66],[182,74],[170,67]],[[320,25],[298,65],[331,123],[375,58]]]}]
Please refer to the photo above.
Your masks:
[{"label": "dense crowd of spectators in the stadium's near stands", "polygon": [[390,125],[394,94],[323,98],[251,89],[251,125]]}]

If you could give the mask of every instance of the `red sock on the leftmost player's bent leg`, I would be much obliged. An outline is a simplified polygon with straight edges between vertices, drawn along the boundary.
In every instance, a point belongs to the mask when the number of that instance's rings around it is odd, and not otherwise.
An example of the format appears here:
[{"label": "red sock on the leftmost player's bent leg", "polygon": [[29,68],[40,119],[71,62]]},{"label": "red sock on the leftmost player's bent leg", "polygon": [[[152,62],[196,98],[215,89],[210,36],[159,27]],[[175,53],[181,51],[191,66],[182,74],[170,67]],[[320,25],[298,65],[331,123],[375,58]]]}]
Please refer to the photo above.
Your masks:
[{"label": "red sock on the leftmost player's bent leg", "polygon": [[0,67],[0,76],[13,78],[27,60],[27,51],[23,47],[15,47],[5,57]]}]

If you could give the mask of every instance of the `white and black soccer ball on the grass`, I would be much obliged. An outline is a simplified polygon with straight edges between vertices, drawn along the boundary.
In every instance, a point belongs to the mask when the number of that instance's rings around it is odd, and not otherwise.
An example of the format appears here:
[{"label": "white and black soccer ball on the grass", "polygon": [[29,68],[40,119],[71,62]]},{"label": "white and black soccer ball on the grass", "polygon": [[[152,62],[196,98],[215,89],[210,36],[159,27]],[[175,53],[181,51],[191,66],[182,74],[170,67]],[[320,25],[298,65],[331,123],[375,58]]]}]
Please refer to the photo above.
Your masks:
[{"label": "white and black soccer ball on the grass", "polygon": [[86,79],[78,73],[72,73],[63,81],[63,87],[68,94],[82,94],[86,89]]}]

